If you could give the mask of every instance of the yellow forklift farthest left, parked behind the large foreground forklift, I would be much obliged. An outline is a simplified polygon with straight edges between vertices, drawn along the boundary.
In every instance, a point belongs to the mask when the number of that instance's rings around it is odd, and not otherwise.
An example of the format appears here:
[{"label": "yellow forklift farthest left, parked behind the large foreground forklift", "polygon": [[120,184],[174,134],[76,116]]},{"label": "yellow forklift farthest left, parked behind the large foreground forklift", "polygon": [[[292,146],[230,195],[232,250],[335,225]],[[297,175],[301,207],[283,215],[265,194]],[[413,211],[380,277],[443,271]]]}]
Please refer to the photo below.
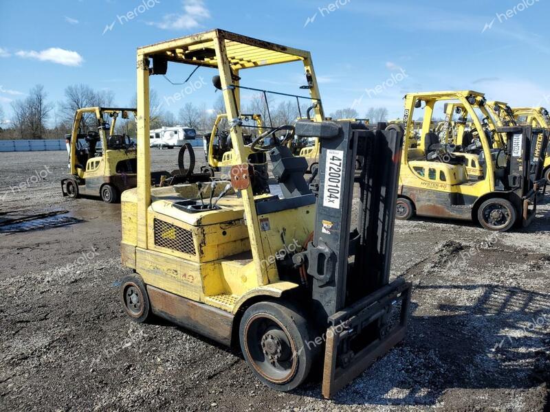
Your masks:
[{"label": "yellow forklift farthest left, parked behind the large foreground forklift", "polygon": [[61,181],[63,196],[100,196],[115,203],[124,190],[136,186],[135,144],[128,135],[117,135],[118,117],[135,116],[135,108],[87,107],[75,115],[67,136],[70,176]]}]

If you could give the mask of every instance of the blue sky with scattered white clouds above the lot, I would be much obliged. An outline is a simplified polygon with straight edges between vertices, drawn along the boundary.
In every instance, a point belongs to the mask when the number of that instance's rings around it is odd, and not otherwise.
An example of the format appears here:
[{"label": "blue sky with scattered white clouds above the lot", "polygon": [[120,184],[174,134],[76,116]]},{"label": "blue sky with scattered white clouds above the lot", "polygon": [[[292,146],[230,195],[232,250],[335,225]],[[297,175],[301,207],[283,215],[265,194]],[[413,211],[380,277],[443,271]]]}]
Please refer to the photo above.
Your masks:
[{"label": "blue sky with scattered white clouds above the lot", "polygon": [[[63,100],[69,84],[86,83],[128,105],[137,47],[214,27],[311,51],[327,113],[385,106],[400,117],[406,93],[443,89],[550,106],[550,0],[148,0],[140,7],[143,1],[0,0],[5,117],[34,84],[52,102]],[[168,77],[181,81],[189,72],[170,66]],[[301,73],[299,66],[269,67],[247,72],[242,84],[300,93]],[[217,98],[213,74],[199,69],[193,80],[207,86],[164,110],[177,114],[188,101],[209,108]],[[182,89],[161,76],[151,85],[162,102]]]}]

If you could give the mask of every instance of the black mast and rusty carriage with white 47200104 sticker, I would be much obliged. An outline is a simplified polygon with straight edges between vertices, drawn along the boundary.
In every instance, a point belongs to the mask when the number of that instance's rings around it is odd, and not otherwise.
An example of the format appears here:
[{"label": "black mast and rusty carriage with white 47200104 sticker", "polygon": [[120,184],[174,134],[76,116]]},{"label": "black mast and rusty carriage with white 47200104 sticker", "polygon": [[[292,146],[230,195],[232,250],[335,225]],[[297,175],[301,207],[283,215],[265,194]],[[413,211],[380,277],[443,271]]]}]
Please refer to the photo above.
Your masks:
[{"label": "black mast and rusty carriage with white 47200104 sticker", "polygon": [[351,122],[298,122],[296,135],[320,139],[314,240],[297,260],[307,262],[313,310],[328,327],[329,398],[406,335],[411,285],[389,282],[403,135]]}]

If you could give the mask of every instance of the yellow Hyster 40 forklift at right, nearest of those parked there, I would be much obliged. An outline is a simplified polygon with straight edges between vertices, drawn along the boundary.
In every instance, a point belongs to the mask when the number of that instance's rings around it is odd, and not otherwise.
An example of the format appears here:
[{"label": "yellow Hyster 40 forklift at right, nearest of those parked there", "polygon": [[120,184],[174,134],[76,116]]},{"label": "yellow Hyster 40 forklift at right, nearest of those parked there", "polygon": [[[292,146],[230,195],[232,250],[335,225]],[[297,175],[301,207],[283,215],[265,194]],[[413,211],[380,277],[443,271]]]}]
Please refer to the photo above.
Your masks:
[{"label": "yellow Hyster 40 forklift at right, nearest of those parked there", "polygon": [[[472,130],[462,146],[441,144],[430,126],[438,105],[460,104]],[[531,141],[537,133],[530,127],[492,130],[484,115],[486,100],[475,91],[410,93],[405,98],[405,135],[412,132],[413,117],[423,111],[421,144],[404,146],[401,157],[397,218],[418,216],[477,220],[485,229],[507,231],[535,216],[538,187],[532,181]],[[504,148],[495,148],[496,135],[506,135]],[[478,156],[483,176],[468,179],[460,152]]]}]

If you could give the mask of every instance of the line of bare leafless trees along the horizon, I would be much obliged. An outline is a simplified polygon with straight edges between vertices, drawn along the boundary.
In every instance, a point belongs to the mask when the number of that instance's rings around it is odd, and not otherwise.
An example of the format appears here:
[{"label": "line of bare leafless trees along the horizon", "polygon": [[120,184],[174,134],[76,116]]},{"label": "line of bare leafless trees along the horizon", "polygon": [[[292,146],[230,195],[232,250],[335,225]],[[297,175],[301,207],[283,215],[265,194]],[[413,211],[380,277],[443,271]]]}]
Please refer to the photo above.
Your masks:
[{"label": "line of bare leafless trees along the horizon", "polygon": [[[137,98],[134,95],[129,106],[135,107]],[[197,105],[186,102],[179,109],[177,115],[170,110],[162,110],[162,100],[157,91],[151,90],[150,128],[162,126],[187,126],[195,128],[199,133],[210,133],[217,115],[224,113],[223,98],[221,95],[211,107],[205,104]],[[274,101],[263,93],[248,96],[248,104],[241,110],[242,113],[259,114],[267,126],[281,126],[293,124],[298,117],[305,117],[309,102],[301,103],[300,107],[295,100]],[[43,85],[37,84],[28,92],[24,99],[11,102],[12,116],[5,122],[5,111],[0,106],[0,139],[62,139],[71,132],[74,113],[79,108],[92,106],[117,106],[112,91],[94,90],[87,84],[73,84],[64,91],[62,102],[54,104],[47,101],[47,93]],[[342,108],[330,115],[333,119],[358,119],[360,113],[355,108]],[[386,108],[370,108],[365,117],[371,123],[388,120]],[[95,119],[85,116],[85,126],[93,126]],[[118,119],[118,133],[126,133],[135,137],[136,125],[133,118]]]}]

